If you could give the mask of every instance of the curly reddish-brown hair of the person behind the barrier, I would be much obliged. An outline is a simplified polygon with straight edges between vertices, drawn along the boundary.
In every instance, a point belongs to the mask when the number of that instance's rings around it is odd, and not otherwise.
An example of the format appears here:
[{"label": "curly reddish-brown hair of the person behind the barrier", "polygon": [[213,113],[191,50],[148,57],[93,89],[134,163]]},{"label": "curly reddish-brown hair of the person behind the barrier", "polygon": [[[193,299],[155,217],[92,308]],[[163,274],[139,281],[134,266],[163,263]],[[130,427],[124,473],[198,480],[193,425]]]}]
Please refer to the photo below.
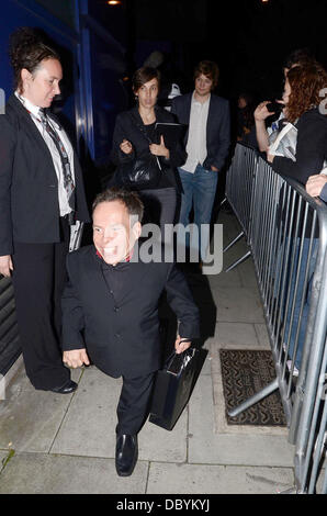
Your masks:
[{"label": "curly reddish-brown hair of the person behind the barrier", "polygon": [[291,87],[286,116],[294,123],[305,111],[322,102],[319,93],[327,87],[327,72],[318,63],[307,63],[291,68],[286,79]]}]

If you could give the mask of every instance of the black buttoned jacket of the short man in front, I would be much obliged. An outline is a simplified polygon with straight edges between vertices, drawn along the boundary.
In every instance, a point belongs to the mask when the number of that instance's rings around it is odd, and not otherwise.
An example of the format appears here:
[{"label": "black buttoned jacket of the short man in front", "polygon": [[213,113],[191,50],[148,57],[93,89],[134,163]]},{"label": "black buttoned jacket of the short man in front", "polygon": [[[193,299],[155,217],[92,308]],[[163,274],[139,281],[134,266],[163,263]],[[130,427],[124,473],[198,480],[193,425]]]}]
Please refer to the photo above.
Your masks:
[{"label": "black buttoned jacket of the short man in front", "polygon": [[106,284],[94,246],[87,246],[67,256],[67,270],[63,349],[87,347],[93,363],[106,374],[133,378],[160,368],[158,301],[164,289],[180,321],[180,336],[199,337],[198,307],[173,263],[117,263],[112,267],[119,277],[115,288]]}]

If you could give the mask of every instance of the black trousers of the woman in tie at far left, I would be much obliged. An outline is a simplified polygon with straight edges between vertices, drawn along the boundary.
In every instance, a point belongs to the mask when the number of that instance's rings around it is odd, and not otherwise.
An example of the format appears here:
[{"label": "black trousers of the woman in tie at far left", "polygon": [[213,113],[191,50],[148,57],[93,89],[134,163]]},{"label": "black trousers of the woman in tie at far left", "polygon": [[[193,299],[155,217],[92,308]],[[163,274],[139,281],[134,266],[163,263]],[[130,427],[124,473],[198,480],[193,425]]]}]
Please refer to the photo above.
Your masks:
[{"label": "black trousers of the woman in tie at far left", "polygon": [[61,386],[70,378],[60,349],[60,300],[67,279],[70,229],[60,218],[61,242],[14,243],[13,287],[26,374],[35,389]]}]

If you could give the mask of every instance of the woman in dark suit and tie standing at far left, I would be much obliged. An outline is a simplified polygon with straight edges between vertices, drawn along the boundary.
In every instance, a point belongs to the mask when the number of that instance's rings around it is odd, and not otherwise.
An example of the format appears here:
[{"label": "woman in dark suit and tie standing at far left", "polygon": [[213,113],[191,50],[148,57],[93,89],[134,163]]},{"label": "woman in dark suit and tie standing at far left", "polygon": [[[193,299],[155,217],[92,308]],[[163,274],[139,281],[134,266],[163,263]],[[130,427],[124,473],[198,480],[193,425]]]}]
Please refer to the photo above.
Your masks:
[{"label": "woman in dark suit and tie standing at far left", "polygon": [[77,384],[60,350],[60,296],[70,226],[88,222],[77,155],[47,109],[63,70],[57,52],[29,27],[11,37],[14,94],[0,116],[0,274],[12,276],[20,344],[35,389]]}]

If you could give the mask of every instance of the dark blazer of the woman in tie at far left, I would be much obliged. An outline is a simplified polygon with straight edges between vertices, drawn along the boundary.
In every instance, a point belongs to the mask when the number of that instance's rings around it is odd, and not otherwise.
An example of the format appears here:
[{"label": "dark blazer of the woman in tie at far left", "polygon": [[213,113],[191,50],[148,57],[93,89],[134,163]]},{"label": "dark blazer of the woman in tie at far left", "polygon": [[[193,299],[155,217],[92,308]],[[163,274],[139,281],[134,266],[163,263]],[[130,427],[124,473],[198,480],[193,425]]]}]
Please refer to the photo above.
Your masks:
[{"label": "dark blazer of the woman in tie at far left", "polygon": [[[89,222],[76,153],[74,164],[77,218]],[[0,115],[0,256],[13,253],[13,242],[59,242],[59,216],[50,152],[29,112],[12,96]]]}]

